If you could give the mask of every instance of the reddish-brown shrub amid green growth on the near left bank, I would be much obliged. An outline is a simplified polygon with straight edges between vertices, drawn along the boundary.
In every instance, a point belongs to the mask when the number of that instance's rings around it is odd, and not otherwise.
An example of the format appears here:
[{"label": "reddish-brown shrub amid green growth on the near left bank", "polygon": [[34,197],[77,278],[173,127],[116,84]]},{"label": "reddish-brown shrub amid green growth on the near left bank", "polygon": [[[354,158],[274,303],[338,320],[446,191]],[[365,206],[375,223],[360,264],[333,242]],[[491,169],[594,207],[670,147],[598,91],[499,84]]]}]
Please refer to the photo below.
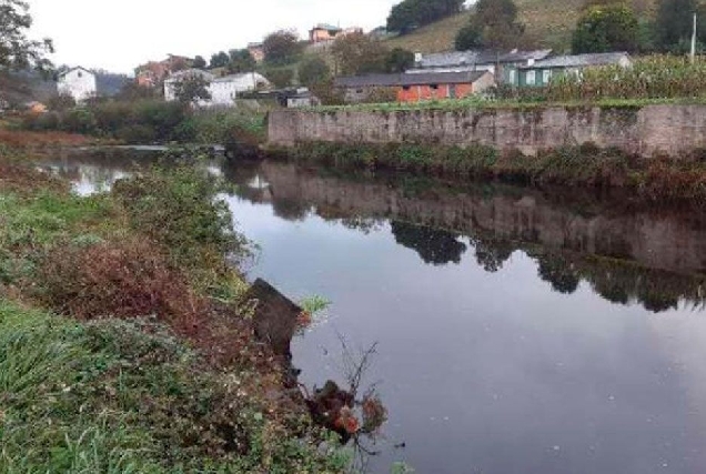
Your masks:
[{"label": "reddish-brown shrub amid green growth on the near left bank", "polygon": [[203,306],[160,249],[139,239],[61,244],[46,255],[40,281],[51,307],[81,320],[157,315],[186,327]]}]

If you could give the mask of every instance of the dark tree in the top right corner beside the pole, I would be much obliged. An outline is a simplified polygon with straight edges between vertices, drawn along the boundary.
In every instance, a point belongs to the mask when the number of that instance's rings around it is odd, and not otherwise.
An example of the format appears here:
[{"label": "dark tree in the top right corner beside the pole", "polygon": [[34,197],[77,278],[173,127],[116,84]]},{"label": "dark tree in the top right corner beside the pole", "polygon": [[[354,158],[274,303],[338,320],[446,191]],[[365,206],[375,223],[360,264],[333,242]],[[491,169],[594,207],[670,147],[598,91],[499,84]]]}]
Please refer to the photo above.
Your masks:
[{"label": "dark tree in the top right corner beside the pole", "polygon": [[690,42],[696,0],[659,0],[657,6],[657,46],[664,51]]}]

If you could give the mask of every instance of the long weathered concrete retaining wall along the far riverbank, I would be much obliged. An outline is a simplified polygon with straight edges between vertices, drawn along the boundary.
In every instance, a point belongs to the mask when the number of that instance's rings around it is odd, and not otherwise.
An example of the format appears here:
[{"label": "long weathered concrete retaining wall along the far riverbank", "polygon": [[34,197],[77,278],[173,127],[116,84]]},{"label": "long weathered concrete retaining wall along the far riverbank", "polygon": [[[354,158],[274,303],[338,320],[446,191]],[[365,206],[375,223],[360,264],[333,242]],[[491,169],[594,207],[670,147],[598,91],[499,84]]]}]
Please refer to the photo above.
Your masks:
[{"label": "long weathered concrete retaining wall along the far riverbank", "polygon": [[625,152],[680,155],[706,149],[706,105],[513,110],[274,111],[270,142],[478,143],[526,154],[593,142]]}]

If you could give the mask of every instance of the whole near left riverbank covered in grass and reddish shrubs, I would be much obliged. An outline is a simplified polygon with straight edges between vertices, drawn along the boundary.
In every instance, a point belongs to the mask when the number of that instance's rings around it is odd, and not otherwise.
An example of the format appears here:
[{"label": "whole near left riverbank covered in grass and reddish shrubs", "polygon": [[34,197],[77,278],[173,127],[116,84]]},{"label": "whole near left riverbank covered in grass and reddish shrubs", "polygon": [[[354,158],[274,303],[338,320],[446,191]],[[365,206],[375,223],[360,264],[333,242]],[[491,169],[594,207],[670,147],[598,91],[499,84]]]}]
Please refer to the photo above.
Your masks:
[{"label": "whole near left riverbank covered in grass and reddish shrubs", "polygon": [[344,468],[254,336],[221,190],[178,164],[80,198],[0,159],[0,471]]}]

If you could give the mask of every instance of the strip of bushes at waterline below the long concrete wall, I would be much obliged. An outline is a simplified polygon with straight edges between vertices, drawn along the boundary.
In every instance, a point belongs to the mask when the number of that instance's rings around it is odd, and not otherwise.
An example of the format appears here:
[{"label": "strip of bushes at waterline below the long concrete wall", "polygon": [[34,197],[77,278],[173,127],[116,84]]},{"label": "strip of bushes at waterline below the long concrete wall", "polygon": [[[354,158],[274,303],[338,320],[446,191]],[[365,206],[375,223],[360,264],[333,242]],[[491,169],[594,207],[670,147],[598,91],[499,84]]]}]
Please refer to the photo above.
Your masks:
[{"label": "strip of bushes at waterline below the long concrete wall", "polygon": [[700,152],[683,160],[643,159],[591,143],[546,150],[536,157],[500,153],[491,147],[406,143],[304,142],[270,150],[274,159],[365,170],[409,171],[452,179],[500,179],[533,184],[633,190],[649,201],[706,201],[706,162]]}]

